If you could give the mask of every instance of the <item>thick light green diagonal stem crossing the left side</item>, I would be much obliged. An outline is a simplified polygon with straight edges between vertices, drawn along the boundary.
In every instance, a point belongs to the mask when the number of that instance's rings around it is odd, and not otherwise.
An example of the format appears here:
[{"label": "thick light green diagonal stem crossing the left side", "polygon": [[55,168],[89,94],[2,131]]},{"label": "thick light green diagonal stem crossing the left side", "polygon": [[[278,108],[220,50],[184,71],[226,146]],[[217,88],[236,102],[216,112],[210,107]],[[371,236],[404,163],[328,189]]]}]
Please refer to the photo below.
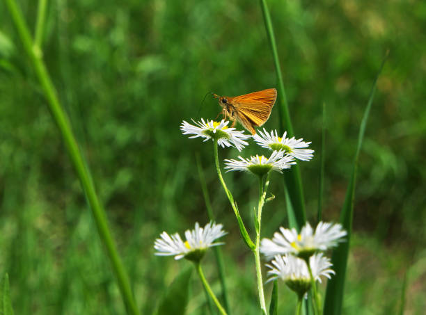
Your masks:
[{"label": "thick light green diagonal stem crossing the left side", "polygon": [[116,245],[114,244],[111,233],[109,232],[105,211],[97,198],[95,187],[93,186],[93,182],[90,179],[88,170],[84,165],[83,156],[79,151],[77,140],[75,139],[74,134],[72,134],[70,122],[68,121],[68,118],[65,115],[61,104],[59,103],[56,90],[46,70],[45,64],[43,63],[41,54],[38,54],[38,49],[33,49],[33,41],[31,39],[29,28],[26,26],[24,17],[22,16],[22,13],[17,7],[15,1],[6,0],[6,5],[8,6],[10,15],[12,16],[13,22],[15,23],[19,37],[22,40],[24,49],[26,50],[31,63],[33,64],[38,80],[40,81],[40,84],[45,92],[47,104],[49,105],[50,111],[52,112],[58,129],[61,131],[63,140],[65,142],[65,147],[67,148],[68,154],[72,161],[72,165],[74,166],[74,170],[77,172],[81,186],[84,190],[84,193],[86,194],[88,203],[90,204],[90,209],[92,210],[93,217],[95,218],[95,223],[97,225],[97,230],[100,234],[100,239],[107,249],[107,255],[111,262],[113,272],[116,275],[118,286],[125,302],[127,312],[129,314],[139,314],[139,310],[137,309],[136,303],[134,302],[127,273],[125,272],[123,263],[118,256]]}]

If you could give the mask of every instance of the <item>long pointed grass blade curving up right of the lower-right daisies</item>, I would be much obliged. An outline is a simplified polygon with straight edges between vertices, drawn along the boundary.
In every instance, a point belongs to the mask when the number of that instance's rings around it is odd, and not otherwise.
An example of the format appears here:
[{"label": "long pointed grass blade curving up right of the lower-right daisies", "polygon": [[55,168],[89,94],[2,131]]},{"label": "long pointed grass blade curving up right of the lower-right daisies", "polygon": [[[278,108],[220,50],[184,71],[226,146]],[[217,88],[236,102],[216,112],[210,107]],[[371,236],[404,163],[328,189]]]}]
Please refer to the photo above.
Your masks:
[{"label": "long pointed grass blade curving up right of the lower-right daisies", "polygon": [[333,255],[331,257],[331,263],[333,264],[333,269],[336,271],[336,275],[329,280],[326,289],[326,298],[324,302],[324,314],[330,315],[340,315],[342,314],[342,301],[343,293],[345,289],[345,278],[346,278],[346,267],[347,267],[347,257],[349,255],[349,241],[352,234],[352,218],[354,216],[354,195],[355,195],[355,181],[356,181],[356,169],[358,167],[358,156],[361,151],[361,146],[363,144],[363,138],[365,134],[365,127],[367,125],[368,115],[370,114],[370,108],[372,106],[372,100],[374,98],[374,92],[376,91],[377,79],[379,79],[379,74],[384,67],[384,63],[388,53],[384,57],[384,60],[381,63],[379,72],[377,73],[376,79],[374,80],[370,97],[368,99],[367,107],[361,120],[361,127],[358,134],[358,145],[356,147],[356,154],[354,159],[354,166],[352,169],[351,179],[346,191],[345,203],[342,207],[342,212],[340,213],[340,223],[342,223],[343,228],[347,231],[346,241],[340,243],[338,248],[333,250]]}]

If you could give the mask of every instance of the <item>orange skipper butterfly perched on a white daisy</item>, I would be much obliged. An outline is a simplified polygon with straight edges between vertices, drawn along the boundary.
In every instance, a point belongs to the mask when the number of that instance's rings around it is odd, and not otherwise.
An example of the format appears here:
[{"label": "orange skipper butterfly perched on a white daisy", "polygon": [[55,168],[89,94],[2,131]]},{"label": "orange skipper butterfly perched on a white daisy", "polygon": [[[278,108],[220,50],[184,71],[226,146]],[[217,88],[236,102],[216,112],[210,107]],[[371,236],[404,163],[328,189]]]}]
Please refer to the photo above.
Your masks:
[{"label": "orange skipper butterfly perched on a white daisy", "polygon": [[276,100],[276,89],[268,88],[267,90],[235,97],[216,94],[213,94],[213,96],[219,99],[219,105],[223,108],[221,113],[223,119],[229,117],[233,121],[232,127],[238,120],[251,134],[256,134],[253,127],[262,126],[271,115]]}]

